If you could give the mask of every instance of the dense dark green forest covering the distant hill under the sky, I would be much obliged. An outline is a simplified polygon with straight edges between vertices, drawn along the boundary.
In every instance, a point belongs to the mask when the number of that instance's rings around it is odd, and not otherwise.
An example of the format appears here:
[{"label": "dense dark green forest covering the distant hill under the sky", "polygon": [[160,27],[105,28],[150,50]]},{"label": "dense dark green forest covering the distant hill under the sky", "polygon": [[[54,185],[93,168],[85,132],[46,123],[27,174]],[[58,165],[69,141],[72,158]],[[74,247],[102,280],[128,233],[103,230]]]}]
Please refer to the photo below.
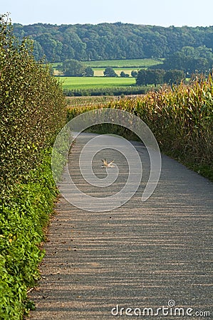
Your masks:
[{"label": "dense dark green forest covering the distant hill under the sky", "polygon": [[51,25],[14,23],[20,40],[30,37],[36,60],[111,60],[167,58],[184,47],[213,49],[213,26],[161,27],[130,23]]}]

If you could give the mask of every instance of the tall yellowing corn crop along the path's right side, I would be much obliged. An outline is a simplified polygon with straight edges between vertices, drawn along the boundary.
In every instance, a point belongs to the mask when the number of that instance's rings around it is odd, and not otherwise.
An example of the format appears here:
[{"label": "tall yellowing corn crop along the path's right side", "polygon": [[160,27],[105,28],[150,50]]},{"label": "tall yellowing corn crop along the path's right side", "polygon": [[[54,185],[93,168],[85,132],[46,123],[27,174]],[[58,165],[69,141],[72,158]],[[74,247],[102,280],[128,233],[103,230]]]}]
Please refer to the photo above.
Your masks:
[{"label": "tall yellowing corn crop along the path's right side", "polygon": [[119,108],[133,112],[152,130],[160,149],[200,174],[213,175],[213,80],[197,80],[125,98],[108,105],[73,107],[68,119],[95,108]]}]

